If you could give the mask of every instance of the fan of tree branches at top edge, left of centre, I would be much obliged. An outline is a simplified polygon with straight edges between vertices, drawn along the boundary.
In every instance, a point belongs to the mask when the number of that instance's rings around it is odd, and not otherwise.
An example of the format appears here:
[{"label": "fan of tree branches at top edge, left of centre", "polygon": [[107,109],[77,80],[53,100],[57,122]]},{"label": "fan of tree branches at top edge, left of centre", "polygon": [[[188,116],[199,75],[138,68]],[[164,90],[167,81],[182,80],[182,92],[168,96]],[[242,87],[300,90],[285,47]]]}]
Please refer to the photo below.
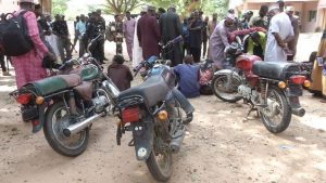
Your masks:
[{"label": "fan of tree branches at top edge, left of centre", "polygon": [[123,14],[130,12],[141,4],[139,0],[105,0],[105,13],[108,14]]}]

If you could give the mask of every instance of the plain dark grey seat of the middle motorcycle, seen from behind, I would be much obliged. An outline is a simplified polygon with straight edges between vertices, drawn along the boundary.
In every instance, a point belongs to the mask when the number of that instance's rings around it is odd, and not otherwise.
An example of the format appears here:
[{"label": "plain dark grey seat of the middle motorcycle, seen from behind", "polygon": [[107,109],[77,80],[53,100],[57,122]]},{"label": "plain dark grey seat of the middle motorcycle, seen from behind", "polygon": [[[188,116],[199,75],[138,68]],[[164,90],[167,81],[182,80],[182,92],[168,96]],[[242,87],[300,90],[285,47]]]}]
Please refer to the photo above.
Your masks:
[{"label": "plain dark grey seat of the middle motorcycle, seen from behind", "polygon": [[118,101],[129,99],[130,96],[143,97],[148,106],[154,106],[158,102],[164,101],[171,89],[161,75],[149,77],[137,87],[133,87],[120,93]]}]

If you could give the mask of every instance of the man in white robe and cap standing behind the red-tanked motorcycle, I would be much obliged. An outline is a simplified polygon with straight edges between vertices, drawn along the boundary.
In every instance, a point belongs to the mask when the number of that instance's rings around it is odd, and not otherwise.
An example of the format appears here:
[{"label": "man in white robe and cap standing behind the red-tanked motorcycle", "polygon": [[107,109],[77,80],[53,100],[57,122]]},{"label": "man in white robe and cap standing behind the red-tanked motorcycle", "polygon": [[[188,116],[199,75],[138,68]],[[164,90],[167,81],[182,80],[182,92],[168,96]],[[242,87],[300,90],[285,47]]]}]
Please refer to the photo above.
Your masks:
[{"label": "man in white robe and cap standing behind the red-tanked motorcycle", "polygon": [[277,4],[269,6],[268,13],[273,17],[268,28],[264,61],[287,62],[287,43],[294,39],[291,21],[285,12],[280,12]]}]

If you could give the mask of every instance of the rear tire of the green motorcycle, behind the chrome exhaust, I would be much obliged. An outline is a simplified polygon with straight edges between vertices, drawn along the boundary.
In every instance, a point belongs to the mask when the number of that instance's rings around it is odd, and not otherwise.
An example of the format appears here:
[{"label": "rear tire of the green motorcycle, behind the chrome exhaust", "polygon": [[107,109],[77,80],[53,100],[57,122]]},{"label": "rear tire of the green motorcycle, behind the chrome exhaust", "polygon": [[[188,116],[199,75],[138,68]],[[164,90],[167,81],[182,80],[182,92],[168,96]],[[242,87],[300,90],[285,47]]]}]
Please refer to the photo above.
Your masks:
[{"label": "rear tire of the green motorcycle, behind the chrome exhaust", "polygon": [[[87,148],[88,139],[89,139],[89,129],[86,128],[82,132],[74,134],[70,138],[65,136],[63,134],[63,129],[70,125],[70,120],[67,114],[65,116],[62,116],[61,109],[66,110],[66,107],[63,102],[55,103],[48,108],[48,112],[46,114],[46,121],[43,126],[43,133],[49,145],[53,148],[53,151],[55,151],[57,153],[63,156],[76,157]],[[58,112],[60,112],[60,114],[57,114]],[[57,119],[59,117],[58,115],[61,115],[63,119],[64,118],[66,119],[61,121],[57,121],[57,120],[53,121],[54,118]],[[57,122],[60,123],[57,125]],[[74,138],[76,136],[78,138],[76,145],[70,146],[72,144],[70,143],[66,144],[66,142],[68,141],[76,143],[74,141]]]}]

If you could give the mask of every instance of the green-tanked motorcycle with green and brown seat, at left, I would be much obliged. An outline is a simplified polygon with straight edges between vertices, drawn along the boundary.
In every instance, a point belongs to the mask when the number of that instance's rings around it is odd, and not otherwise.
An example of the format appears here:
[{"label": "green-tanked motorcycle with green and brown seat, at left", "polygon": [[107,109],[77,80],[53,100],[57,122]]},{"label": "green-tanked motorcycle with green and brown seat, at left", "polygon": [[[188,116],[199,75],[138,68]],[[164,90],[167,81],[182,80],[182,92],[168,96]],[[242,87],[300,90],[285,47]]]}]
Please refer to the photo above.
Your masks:
[{"label": "green-tanked motorcycle with green and brown seat, at left", "polygon": [[65,62],[59,70],[66,75],[29,82],[10,95],[21,104],[22,118],[32,122],[33,133],[43,129],[53,151],[75,157],[86,149],[92,122],[116,105],[120,91],[90,53]]}]

